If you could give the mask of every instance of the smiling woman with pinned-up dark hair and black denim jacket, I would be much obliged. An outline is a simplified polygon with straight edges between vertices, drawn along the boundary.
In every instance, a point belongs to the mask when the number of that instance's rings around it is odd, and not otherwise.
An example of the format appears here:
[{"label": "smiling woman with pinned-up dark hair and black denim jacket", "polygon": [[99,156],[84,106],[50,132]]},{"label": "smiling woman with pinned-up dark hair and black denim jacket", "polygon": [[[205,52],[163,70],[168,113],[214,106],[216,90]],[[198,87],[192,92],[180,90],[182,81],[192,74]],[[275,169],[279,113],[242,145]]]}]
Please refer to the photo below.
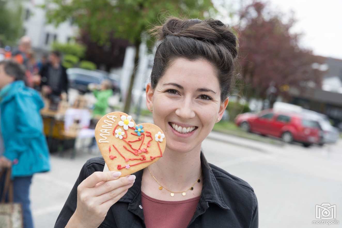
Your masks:
[{"label": "smiling woman with pinned-up dark hair and black denim jacket", "polygon": [[201,151],[228,105],[236,36],[214,19],[169,18],[151,32],[159,44],[146,105],[167,139],[163,156],[120,178],[95,172],[103,158],[90,159],[55,227],[258,227],[253,188]]}]

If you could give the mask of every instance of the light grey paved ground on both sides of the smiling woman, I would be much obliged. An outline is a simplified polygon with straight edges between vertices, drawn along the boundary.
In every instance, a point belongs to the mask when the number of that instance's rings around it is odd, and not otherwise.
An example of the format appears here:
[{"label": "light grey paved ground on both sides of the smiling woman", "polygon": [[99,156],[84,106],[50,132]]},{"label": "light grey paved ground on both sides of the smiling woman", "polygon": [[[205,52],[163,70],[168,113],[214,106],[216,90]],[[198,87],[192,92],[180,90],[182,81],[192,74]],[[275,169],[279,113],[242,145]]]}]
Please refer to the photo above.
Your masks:
[{"label": "light grey paved ground on both sides of the smiling woman", "polygon": [[[329,227],[342,227],[342,140],[332,146],[304,148],[211,133],[202,147],[210,163],[254,188],[259,227],[319,226],[312,221],[318,220],[315,205],[322,203],[336,204],[340,225]],[[74,160],[52,156],[51,172],[34,176],[31,201],[36,228],[53,227],[82,165],[95,156],[78,153]]]}]

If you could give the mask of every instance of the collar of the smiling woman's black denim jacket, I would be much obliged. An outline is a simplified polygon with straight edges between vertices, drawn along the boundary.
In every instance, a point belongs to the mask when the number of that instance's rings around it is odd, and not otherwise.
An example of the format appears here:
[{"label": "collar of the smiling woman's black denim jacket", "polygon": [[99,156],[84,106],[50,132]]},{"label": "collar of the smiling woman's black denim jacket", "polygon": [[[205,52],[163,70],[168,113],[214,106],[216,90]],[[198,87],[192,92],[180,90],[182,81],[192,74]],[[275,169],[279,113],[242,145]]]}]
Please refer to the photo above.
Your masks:
[{"label": "collar of the smiling woman's black denim jacket", "polygon": [[[218,206],[220,206],[222,209],[230,210],[230,208],[222,199],[219,184],[211,170],[211,167],[209,166],[209,163],[207,162],[207,159],[204,157],[202,151],[201,151],[200,159],[201,159],[202,175],[203,175],[201,201],[215,203]],[[133,175],[136,176],[135,182],[133,186],[128,189],[127,193],[119,200],[120,202],[132,203],[136,199],[141,201],[141,180],[142,180],[143,170],[139,170],[133,173]]]}]

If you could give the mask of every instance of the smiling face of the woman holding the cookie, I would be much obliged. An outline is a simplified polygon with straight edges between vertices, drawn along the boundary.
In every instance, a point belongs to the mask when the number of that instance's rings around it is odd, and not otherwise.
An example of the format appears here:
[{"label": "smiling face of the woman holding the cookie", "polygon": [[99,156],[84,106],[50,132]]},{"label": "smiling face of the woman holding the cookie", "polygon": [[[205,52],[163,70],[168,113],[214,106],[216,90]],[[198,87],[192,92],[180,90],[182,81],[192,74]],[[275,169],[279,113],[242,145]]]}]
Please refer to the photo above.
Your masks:
[{"label": "smiling face of the woman holding the cookie", "polygon": [[165,134],[167,148],[189,152],[200,149],[228,99],[221,102],[219,80],[208,61],[177,58],[154,90],[147,85],[146,104]]}]

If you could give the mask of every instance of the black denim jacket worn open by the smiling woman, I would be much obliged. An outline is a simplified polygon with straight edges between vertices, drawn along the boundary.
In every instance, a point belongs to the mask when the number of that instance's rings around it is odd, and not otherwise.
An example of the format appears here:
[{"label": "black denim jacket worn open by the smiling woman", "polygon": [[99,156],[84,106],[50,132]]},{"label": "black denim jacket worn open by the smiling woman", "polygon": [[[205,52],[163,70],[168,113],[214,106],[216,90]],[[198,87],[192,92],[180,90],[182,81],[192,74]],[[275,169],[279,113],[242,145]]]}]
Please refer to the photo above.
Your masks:
[{"label": "black denim jacket worn open by the smiling woman", "polygon": [[[77,186],[95,171],[103,171],[102,157],[89,159],[66,200],[55,228],[64,228],[76,210]],[[258,201],[253,188],[244,180],[209,164],[201,152],[203,186],[197,210],[188,227],[258,227]],[[141,203],[143,170],[133,173],[135,182],[128,192],[110,207],[101,228],[145,227]],[[176,227],[175,227],[176,228]]]}]

